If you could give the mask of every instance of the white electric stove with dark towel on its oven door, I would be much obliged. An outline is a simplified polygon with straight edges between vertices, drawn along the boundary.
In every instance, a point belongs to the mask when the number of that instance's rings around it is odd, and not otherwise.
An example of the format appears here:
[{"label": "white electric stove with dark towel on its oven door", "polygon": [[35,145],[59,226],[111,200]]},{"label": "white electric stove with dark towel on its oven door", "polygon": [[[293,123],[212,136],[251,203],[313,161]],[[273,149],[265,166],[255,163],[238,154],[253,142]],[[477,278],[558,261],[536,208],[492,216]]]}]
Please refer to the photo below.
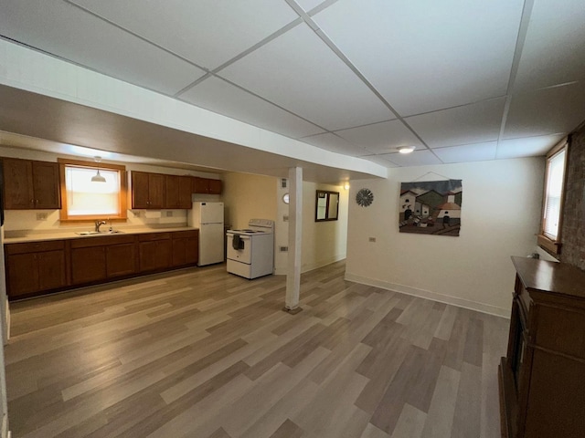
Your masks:
[{"label": "white electric stove with dark towel on its oven door", "polygon": [[229,273],[251,279],[274,272],[274,221],[250,219],[248,228],[226,235]]}]

